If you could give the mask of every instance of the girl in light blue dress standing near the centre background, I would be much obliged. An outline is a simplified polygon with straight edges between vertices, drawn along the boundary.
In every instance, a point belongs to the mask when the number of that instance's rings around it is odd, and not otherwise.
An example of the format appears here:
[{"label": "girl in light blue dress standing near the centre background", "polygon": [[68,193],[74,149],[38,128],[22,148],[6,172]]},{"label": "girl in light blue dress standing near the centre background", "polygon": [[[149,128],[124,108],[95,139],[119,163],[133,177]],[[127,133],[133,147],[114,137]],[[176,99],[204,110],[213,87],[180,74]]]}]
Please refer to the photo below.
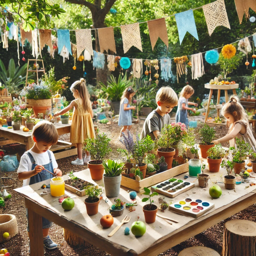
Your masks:
[{"label": "girl in light blue dress standing near the centre background", "polygon": [[121,97],[118,125],[123,125],[123,128],[118,137],[119,140],[122,140],[122,132],[125,132],[126,129],[130,130],[132,127],[132,109],[135,110],[136,107],[130,106],[130,104],[134,95],[135,91],[132,87],[128,87],[124,90]]}]

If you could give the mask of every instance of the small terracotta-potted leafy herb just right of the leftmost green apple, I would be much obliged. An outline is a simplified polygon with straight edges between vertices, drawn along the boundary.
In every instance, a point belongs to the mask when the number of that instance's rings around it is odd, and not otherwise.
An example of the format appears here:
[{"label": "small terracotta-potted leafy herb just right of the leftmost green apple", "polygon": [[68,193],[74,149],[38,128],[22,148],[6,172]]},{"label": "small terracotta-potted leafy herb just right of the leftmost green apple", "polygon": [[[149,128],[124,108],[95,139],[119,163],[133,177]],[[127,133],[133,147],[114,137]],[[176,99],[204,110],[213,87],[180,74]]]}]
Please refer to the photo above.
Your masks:
[{"label": "small terracotta-potted leafy herb just right of the leftmost green apple", "polygon": [[101,194],[101,188],[89,187],[85,190],[85,195],[88,197],[84,200],[84,203],[88,215],[95,215],[98,213],[98,207],[100,203],[99,196]]}]

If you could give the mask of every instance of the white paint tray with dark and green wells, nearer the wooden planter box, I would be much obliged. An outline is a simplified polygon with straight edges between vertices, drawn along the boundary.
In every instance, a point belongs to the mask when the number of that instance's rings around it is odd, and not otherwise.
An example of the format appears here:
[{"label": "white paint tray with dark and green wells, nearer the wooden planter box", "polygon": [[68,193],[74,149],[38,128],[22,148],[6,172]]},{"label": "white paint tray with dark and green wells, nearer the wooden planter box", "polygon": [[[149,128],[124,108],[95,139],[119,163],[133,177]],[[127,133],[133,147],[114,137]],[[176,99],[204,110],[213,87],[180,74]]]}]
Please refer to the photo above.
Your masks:
[{"label": "white paint tray with dark and green wells, nearer the wooden planter box", "polygon": [[171,178],[166,181],[160,182],[154,186],[151,186],[151,190],[173,198],[193,188],[194,186],[195,184],[193,182],[187,182],[177,178]]}]

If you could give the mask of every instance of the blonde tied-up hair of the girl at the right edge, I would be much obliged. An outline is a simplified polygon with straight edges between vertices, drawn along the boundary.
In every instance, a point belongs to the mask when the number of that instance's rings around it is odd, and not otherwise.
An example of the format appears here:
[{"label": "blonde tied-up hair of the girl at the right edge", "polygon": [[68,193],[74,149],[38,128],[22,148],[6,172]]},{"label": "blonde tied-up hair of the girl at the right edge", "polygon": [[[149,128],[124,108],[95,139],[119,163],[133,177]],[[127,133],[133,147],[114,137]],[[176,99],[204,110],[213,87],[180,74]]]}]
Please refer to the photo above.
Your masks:
[{"label": "blonde tied-up hair of the girl at the right edge", "polygon": [[230,97],[229,102],[227,102],[221,110],[222,115],[230,114],[234,117],[235,122],[239,120],[243,120],[248,122],[248,116],[240,104],[239,98],[235,95]]}]

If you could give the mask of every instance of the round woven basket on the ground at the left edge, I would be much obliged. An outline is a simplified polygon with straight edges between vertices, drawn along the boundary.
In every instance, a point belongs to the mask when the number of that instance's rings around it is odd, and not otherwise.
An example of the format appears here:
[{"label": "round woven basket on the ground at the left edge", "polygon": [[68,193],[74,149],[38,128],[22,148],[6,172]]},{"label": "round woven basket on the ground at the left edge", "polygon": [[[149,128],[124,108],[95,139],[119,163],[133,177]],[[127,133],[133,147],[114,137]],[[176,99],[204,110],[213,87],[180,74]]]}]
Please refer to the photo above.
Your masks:
[{"label": "round woven basket on the ground at the left edge", "polygon": [[[9,237],[3,238],[3,233],[8,232]],[[18,234],[17,219],[12,214],[0,214],[0,243],[5,243]]]}]

